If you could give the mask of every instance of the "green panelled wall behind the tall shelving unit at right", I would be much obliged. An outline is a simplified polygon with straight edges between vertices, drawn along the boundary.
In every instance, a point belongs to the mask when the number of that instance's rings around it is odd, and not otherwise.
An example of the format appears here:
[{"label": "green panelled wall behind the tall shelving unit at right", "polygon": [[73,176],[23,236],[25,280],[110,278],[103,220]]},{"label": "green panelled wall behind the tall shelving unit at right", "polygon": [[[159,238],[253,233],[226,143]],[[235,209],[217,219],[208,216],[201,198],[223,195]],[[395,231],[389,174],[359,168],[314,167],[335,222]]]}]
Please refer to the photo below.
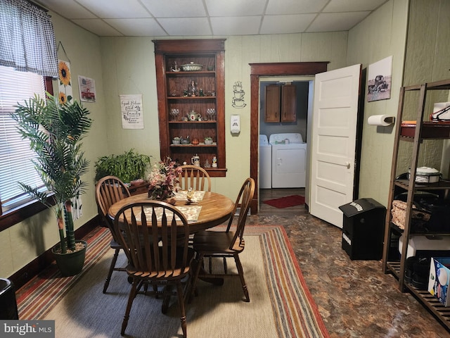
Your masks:
[{"label": "green panelled wall behind the tall shelving unit at right", "polygon": [[[450,1],[411,0],[404,66],[404,84],[420,84],[450,78]],[[449,91],[427,93],[425,115],[432,113],[435,102],[450,101]],[[416,120],[418,92],[405,96],[407,119]],[[411,163],[412,144],[401,148],[397,173],[406,172]],[[440,170],[449,177],[449,140],[427,140],[420,145],[418,167]]]}]

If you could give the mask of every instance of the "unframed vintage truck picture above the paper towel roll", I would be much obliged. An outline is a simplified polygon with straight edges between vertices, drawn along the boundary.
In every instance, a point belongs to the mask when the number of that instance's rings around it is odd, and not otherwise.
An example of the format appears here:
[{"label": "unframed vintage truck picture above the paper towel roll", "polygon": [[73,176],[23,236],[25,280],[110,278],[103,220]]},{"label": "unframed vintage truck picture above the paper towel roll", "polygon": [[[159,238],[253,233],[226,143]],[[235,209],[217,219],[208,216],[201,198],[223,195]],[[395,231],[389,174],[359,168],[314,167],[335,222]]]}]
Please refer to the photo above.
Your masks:
[{"label": "unframed vintage truck picture above the paper towel roll", "polygon": [[367,101],[391,98],[392,56],[368,66]]}]

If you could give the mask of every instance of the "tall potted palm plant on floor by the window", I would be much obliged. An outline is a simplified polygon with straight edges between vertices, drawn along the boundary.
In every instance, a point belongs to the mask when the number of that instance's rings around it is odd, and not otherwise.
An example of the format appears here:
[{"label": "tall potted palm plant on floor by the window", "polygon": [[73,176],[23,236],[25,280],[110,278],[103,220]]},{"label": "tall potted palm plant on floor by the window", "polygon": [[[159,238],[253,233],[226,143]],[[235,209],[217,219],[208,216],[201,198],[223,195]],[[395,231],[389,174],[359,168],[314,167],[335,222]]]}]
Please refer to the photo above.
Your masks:
[{"label": "tall potted palm plant on floor by the window", "polygon": [[45,206],[54,206],[60,242],[52,252],[63,275],[76,275],[83,268],[87,243],[75,241],[71,200],[85,192],[86,182],[81,177],[87,172],[89,161],[84,158],[80,141],[92,120],[89,111],[77,101],[60,105],[57,97],[49,93],[47,96],[45,100],[35,95],[18,104],[12,115],[18,122],[18,132],[30,140],[30,148],[37,154],[34,166],[46,191],[19,184]]}]

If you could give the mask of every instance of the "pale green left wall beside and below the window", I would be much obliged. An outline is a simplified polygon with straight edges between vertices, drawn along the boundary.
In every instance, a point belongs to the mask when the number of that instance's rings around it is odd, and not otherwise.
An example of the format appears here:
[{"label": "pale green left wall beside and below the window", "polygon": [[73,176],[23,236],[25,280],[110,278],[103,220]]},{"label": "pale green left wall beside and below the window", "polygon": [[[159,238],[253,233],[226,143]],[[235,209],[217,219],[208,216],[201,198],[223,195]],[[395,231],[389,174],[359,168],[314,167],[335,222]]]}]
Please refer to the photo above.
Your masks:
[{"label": "pale green left wall beside and below the window", "polygon": [[[91,170],[83,177],[90,184],[86,194],[82,196],[82,217],[75,220],[75,227],[78,228],[98,213],[94,198],[94,161],[108,151],[108,129],[105,128],[108,116],[105,115],[100,38],[55,13],[51,13],[51,16],[55,28],[56,44],[61,42],[67,52],[67,56],[65,56],[63,48],[60,46],[58,56],[65,61],[70,60],[75,99],[79,100],[78,75],[91,77],[96,84],[96,102],[84,103],[84,106],[91,111],[94,124],[84,139],[84,151],[86,158],[91,161]],[[57,94],[58,83],[56,81],[53,81],[53,88]],[[56,218],[54,213],[48,209],[0,232],[0,276],[13,275],[58,241]]]}]

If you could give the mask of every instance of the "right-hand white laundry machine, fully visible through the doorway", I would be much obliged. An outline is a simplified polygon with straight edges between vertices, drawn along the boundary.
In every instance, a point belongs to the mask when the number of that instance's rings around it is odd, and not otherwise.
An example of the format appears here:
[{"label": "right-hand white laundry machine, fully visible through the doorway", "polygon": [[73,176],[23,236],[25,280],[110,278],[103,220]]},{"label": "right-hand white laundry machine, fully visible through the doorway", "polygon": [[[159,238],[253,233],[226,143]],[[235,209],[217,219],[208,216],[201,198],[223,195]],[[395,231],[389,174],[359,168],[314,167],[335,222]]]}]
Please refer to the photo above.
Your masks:
[{"label": "right-hand white laundry machine, fully visible through the doorway", "polygon": [[307,180],[307,143],[302,134],[271,134],[272,188],[303,188]]}]

